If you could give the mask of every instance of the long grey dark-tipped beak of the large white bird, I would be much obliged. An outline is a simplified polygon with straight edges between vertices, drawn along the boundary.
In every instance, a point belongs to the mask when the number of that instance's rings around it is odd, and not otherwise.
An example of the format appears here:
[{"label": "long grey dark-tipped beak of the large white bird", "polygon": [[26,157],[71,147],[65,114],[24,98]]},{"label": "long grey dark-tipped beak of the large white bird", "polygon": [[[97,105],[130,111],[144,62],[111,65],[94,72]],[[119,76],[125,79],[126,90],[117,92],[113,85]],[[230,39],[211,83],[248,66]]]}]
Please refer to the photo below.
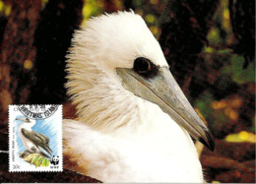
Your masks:
[{"label": "long grey dark-tipped beak of the large white bird", "polygon": [[188,131],[194,139],[214,151],[215,142],[212,134],[180,90],[167,67],[161,67],[159,74],[149,79],[140,76],[133,69],[117,68],[116,71],[128,91],[158,104],[163,112]]}]

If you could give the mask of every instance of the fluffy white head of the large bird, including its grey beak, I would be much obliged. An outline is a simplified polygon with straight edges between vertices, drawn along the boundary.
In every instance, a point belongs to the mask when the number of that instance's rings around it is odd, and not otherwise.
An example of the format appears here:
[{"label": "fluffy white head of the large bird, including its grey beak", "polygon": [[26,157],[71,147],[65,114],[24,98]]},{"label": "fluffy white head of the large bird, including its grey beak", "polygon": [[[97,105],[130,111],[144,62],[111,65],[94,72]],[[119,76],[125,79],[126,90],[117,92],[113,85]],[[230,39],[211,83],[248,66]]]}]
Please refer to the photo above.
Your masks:
[{"label": "fluffy white head of the large bird, including its grey beak", "polygon": [[175,82],[159,42],[139,15],[119,12],[89,20],[75,32],[67,58],[66,87],[80,121],[101,130],[117,128],[132,117],[138,119],[143,103],[154,103],[214,149],[211,133]]}]

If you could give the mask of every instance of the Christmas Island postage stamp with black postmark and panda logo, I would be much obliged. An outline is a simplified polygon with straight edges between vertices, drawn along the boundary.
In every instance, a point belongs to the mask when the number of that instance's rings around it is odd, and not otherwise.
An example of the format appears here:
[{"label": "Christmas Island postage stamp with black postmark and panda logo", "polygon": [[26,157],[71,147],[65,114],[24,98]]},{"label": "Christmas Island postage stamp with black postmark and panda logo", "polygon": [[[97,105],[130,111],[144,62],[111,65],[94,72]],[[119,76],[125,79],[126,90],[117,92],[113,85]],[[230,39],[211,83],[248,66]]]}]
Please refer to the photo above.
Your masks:
[{"label": "Christmas Island postage stamp with black postmark and panda logo", "polygon": [[62,171],[62,105],[9,105],[9,171]]}]

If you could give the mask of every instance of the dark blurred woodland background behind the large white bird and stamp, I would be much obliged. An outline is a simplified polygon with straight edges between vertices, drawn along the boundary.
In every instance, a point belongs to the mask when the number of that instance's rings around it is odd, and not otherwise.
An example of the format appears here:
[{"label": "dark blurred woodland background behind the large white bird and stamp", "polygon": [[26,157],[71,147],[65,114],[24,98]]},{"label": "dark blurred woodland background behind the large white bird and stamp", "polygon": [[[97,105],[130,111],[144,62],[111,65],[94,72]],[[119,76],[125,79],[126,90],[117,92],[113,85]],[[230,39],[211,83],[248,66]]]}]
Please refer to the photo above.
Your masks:
[{"label": "dark blurred woodland background behind the large white bird and stamp", "polygon": [[[92,16],[130,9],[160,40],[215,136],[214,153],[199,151],[207,181],[254,183],[254,0],[0,0],[0,151],[8,150],[9,104],[62,103],[64,117],[74,117],[63,87],[72,33]],[[8,153],[0,156],[0,182],[96,181],[66,169],[9,173]]]}]

